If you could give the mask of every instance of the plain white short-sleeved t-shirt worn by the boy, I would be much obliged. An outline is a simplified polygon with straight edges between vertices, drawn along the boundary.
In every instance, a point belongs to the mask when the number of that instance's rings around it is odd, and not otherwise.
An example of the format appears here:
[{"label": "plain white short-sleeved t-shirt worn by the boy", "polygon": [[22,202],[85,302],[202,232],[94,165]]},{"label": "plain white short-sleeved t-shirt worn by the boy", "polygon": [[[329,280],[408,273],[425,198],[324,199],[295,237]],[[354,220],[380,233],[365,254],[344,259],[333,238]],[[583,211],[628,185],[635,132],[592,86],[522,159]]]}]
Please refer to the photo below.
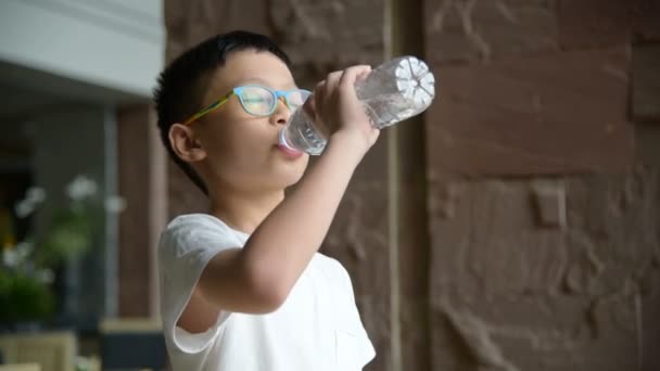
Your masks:
[{"label": "plain white short-sleeved t-shirt worn by the boy", "polygon": [[282,306],[267,315],[220,312],[191,334],[176,325],[206,264],[250,235],[205,214],[175,218],[161,235],[163,331],[174,370],[356,371],[376,356],[346,270],[316,254]]}]

